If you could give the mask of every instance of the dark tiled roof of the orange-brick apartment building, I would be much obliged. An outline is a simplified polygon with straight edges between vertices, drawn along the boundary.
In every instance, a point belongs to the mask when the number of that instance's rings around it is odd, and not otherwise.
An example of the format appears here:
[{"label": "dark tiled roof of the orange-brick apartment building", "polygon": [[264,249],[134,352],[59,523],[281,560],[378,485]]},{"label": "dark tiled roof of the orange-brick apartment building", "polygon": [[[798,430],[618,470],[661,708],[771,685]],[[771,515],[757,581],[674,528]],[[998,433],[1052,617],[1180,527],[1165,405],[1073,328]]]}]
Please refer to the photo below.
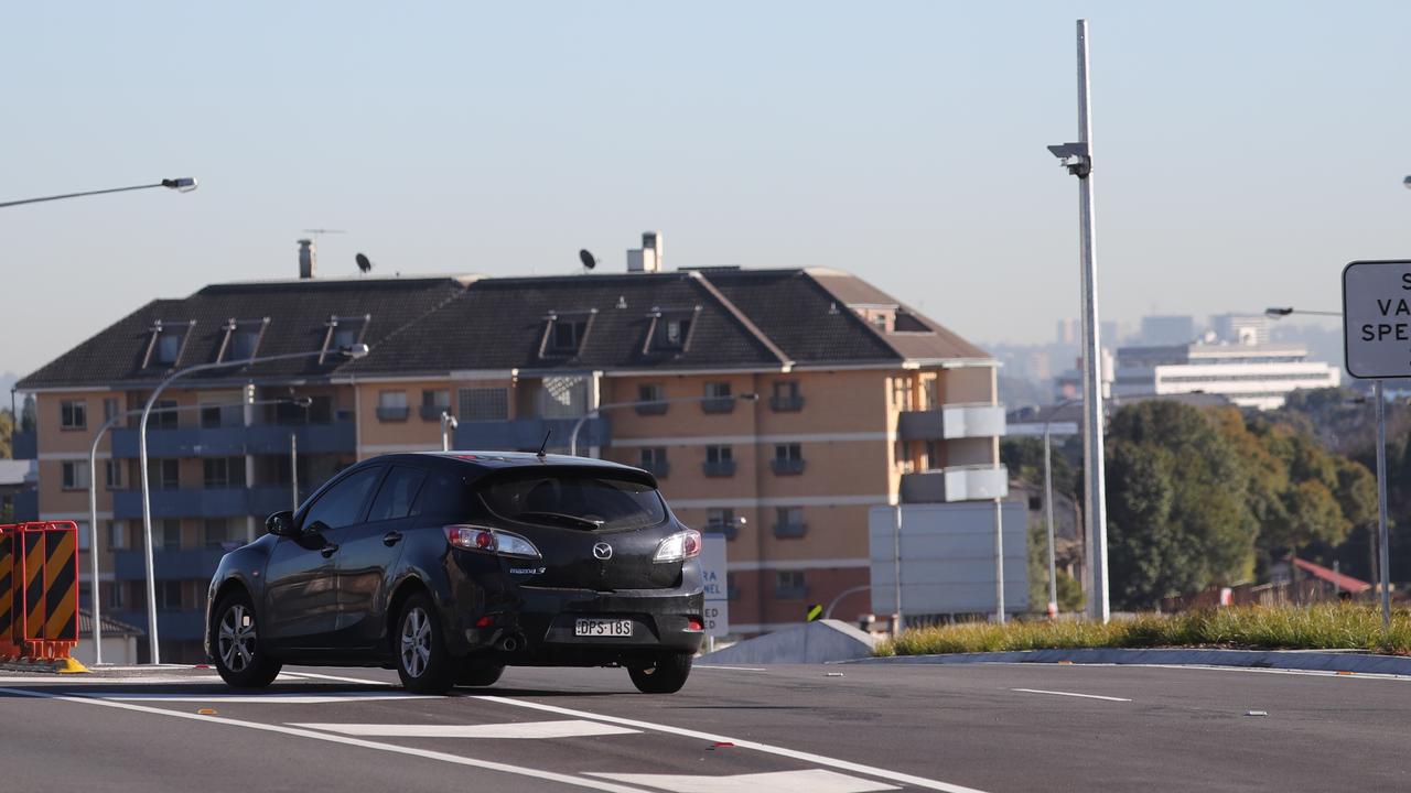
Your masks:
[{"label": "dark tiled roof of the orange-brick apartment building", "polygon": [[[332,375],[443,375],[449,371],[773,368],[985,358],[933,320],[900,306],[902,333],[885,333],[849,306],[897,305],[837,271],[673,271],[535,278],[351,278],[206,286],[152,301],[20,381],[20,389],[151,384],[176,368],[214,361],[234,320],[270,319],[257,354],[323,347],[330,317],[370,316],[360,361],[309,357],[202,373],[213,380],[281,381]],[[543,350],[549,317],[584,322],[577,349]],[[689,320],[686,344],[650,337]],[[144,368],[155,323],[186,327],[175,364]],[[354,320],[356,325],[356,320]],[[658,330],[653,330],[656,327]],[[198,375],[199,377],[199,375]]]}]

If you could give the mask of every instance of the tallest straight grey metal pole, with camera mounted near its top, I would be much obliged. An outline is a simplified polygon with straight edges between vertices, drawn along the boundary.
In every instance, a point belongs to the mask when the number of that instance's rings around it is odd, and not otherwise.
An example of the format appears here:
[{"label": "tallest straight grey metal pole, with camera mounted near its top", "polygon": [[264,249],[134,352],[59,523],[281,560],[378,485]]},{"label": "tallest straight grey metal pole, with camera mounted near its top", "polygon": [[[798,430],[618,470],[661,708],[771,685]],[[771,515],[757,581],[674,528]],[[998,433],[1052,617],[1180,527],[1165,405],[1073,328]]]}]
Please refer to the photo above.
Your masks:
[{"label": "tallest straight grey metal pole, with camera mounted near its top", "polygon": [[1092,113],[1088,79],[1088,20],[1078,20],[1078,143],[1088,157],[1086,174],[1078,178],[1082,219],[1082,473],[1088,492],[1085,518],[1092,538],[1092,603],[1089,615],[1106,622],[1108,604],[1108,508],[1102,450],[1102,340],[1098,337],[1098,233],[1094,229]]}]

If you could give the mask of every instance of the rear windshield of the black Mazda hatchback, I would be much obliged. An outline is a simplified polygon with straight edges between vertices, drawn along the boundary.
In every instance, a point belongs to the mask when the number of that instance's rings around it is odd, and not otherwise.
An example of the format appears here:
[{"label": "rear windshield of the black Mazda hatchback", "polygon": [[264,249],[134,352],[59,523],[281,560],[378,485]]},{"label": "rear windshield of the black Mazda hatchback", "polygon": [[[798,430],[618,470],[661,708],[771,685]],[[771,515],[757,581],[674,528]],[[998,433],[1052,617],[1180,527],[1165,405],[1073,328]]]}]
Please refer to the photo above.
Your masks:
[{"label": "rear windshield of the black Mazda hatchback", "polygon": [[480,492],[491,512],[528,523],[594,531],[666,519],[656,488],[612,476],[531,470],[495,477]]}]

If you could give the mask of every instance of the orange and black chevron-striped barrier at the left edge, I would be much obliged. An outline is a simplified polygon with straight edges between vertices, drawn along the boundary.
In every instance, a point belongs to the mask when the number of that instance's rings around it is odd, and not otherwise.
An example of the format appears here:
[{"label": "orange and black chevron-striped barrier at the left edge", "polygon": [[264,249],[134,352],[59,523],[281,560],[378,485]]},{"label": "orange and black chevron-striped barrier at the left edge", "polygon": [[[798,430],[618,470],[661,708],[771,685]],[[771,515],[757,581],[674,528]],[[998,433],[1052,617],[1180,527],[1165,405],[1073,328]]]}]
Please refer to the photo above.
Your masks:
[{"label": "orange and black chevron-striped barrier at the left edge", "polygon": [[73,521],[0,526],[0,660],[78,666],[78,545]]}]

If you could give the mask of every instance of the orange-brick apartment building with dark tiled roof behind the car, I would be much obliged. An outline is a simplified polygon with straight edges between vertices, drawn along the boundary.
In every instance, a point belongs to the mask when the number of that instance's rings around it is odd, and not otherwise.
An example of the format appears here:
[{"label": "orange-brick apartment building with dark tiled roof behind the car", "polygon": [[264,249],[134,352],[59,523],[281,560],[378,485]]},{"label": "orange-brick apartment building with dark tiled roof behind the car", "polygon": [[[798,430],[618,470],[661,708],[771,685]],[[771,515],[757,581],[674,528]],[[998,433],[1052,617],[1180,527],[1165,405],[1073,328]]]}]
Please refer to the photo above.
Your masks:
[{"label": "orange-brick apartment building with dark tiled roof behind the car", "polygon": [[[349,360],[349,344],[371,351]],[[114,420],[97,446],[104,614],[147,625],[124,415],[188,367],[296,353],[182,377],[152,415],[164,659],[199,658],[206,581],[265,515],[358,459],[440,449],[443,413],[456,449],[547,435],[550,450],[576,442],[655,473],[683,521],[729,538],[741,634],[866,583],[869,507],[959,501],[1005,477],[996,363],[840,271],[220,284],[152,301],[18,385],[37,399],[37,435],[17,447],[38,459],[42,518],[86,529],[89,449]],[[868,611],[858,594],[835,615]]]}]

